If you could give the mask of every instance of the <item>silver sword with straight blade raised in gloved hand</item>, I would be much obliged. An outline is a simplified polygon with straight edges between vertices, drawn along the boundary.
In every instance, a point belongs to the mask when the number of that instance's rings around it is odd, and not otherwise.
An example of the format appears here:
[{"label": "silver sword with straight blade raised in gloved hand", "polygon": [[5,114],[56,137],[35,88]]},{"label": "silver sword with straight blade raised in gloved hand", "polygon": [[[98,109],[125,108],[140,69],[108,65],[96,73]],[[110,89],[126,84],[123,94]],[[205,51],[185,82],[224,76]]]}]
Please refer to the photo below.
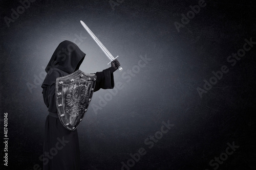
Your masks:
[{"label": "silver sword with straight blade raised in gloved hand", "polygon": [[[100,40],[93,34],[93,32],[87,27],[87,25],[81,21],[81,25],[83,26],[84,29],[86,29],[86,31],[91,35],[91,37],[93,38],[93,40],[99,45],[99,47],[101,48],[101,50],[105,53],[106,57],[108,57],[110,59],[110,62],[108,64],[110,64],[113,60],[115,60],[116,58],[114,58],[112,56],[112,54],[108,51],[108,49],[106,49],[106,47],[100,42]],[[122,71],[122,67],[118,67],[119,71]]]}]

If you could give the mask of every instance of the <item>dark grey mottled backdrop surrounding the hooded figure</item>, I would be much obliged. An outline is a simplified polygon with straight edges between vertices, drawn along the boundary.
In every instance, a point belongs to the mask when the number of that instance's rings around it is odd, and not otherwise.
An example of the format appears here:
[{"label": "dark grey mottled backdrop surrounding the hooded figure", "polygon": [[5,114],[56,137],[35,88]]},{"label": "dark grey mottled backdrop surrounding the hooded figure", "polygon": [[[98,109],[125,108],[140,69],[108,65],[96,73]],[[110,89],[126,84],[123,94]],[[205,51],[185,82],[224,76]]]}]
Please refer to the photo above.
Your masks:
[{"label": "dark grey mottled backdrop surrounding the hooded figure", "polygon": [[[44,67],[61,41],[82,37],[75,41],[87,54],[82,71],[109,67],[80,20],[120,56],[123,67],[114,73],[123,88],[94,111],[92,106],[110,93],[96,92],[78,128],[81,169],[121,169],[121,162],[141,147],[146,154],[130,169],[214,169],[210,160],[225,152],[228,142],[240,147],[218,169],[255,169],[256,44],[236,65],[226,59],[243,47],[244,39],[256,41],[256,3],[206,1],[178,32],[174,22],[181,22],[181,14],[197,4],[124,0],[113,10],[107,0],[38,0],[7,27],[4,17],[11,17],[11,9],[21,4],[1,1],[1,138],[3,113],[9,115],[9,166],[4,169],[42,165],[48,113],[40,85]],[[140,56],[152,60],[131,79],[125,78]],[[197,87],[203,88],[204,79],[223,65],[229,72],[201,99]],[[28,84],[34,88],[29,90]],[[149,149],[144,140],[167,120],[174,126]]]}]

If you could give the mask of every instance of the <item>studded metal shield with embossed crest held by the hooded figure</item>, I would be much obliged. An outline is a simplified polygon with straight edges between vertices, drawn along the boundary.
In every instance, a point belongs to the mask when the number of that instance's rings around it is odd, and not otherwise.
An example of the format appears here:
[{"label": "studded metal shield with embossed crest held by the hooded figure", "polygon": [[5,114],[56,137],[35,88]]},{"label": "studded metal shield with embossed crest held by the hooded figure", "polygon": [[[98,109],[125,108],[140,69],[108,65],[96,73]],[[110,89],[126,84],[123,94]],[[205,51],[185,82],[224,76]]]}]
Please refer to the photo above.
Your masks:
[{"label": "studded metal shield with embossed crest held by the hooded figure", "polygon": [[72,74],[56,79],[57,112],[62,125],[75,130],[92,99],[96,84],[95,74],[77,70]]}]

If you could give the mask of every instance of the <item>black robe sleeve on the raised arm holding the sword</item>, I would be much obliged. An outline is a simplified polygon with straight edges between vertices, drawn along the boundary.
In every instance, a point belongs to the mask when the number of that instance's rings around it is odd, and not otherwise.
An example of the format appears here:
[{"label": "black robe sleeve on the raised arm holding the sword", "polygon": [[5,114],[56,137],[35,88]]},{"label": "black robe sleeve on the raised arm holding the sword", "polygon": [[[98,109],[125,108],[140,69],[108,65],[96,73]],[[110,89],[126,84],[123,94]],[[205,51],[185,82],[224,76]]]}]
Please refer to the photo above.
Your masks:
[{"label": "black robe sleeve on the raised arm holding the sword", "polygon": [[97,80],[94,88],[94,92],[98,91],[100,88],[102,89],[113,89],[114,84],[114,76],[111,68],[104,69],[103,71],[96,72]]}]

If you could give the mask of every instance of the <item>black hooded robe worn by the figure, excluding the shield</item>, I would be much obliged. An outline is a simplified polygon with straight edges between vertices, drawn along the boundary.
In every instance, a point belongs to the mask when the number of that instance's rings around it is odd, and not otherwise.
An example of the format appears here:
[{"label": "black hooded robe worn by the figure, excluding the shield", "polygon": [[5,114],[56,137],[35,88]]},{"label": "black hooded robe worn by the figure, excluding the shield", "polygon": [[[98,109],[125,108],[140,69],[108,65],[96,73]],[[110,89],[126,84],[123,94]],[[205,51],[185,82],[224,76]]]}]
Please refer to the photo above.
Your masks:
[{"label": "black hooded robe worn by the figure, excluding the shield", "polygon": [[[56,78],[67,76],[77,70],[85,55],[75,43],[63,41],[56,48],[46,67],[47,76],[41,86],[44,102],[49,111],[45,124],[44,157],[41,158],[44,170],[80,169],[77,129],[70,131],[60,123],[57,115],[55,83]],[[94,91],[100,88],[114,88],[111,68],[96,72],[96,76]]]}]

